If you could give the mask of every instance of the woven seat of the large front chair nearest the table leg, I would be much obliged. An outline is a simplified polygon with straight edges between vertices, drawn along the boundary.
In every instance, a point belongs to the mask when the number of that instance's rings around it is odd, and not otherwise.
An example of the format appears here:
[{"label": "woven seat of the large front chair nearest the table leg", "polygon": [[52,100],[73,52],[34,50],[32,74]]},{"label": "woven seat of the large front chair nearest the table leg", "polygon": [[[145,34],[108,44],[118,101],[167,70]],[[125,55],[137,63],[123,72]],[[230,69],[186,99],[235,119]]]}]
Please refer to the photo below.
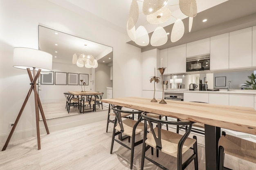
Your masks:
[{"label": "woven seat of the large front chair nearest the table leg", "polygon": [[[157,127],[154,128],[155,134],[157,135]],[[157,135],[158,136],[158,135]],[[162,149],[161,151],[163,153],[166,153],[168,155],[171,155],[173,157],[177,157],[177,150],[178,150],[178,142],[183,137],[183,135],[173,133],[171,131],[166,131],[164,129],[161,129],[161,142],[162,142]],[[156,148],[155,139],[152,135],[152,132],[148,133],[146,144],[152,146],[153,148]],[[184,142],[184,145],[182,147],[182,154],[185,153],[187,150],[189,150],[190,147],[193,146],[193,144],[196,142],[195,139],[187,138]]]}]

